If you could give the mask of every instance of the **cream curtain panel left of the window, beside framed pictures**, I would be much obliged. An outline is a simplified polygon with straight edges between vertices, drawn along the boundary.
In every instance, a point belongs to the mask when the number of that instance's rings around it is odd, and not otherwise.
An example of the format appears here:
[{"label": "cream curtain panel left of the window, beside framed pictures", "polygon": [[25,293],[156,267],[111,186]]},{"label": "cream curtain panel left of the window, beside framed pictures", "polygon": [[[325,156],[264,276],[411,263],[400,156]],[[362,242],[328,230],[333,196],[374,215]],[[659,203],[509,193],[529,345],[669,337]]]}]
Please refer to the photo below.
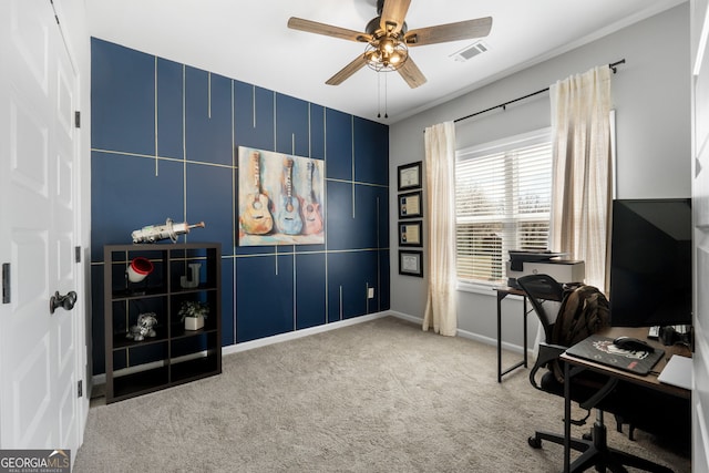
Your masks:
[{"label": "cream curtain panel left of the window, beside framed pictures", "polygon": [[455,336],[455,125],[425,128],[429,288],[423,330]]}]

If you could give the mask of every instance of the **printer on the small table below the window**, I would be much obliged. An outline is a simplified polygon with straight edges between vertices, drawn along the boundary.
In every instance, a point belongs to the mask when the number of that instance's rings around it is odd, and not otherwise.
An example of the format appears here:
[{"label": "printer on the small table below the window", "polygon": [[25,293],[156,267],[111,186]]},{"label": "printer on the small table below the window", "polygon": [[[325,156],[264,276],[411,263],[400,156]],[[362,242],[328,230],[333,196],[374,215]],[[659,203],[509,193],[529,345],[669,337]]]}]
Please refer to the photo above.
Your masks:
[{"label": "printer on the small table below the window", "polygon": [[506,261],[507,286],[518,288],[517,278],[548,275],[558,282],[583,282],[586,265],[582,260],[562,259],[565,253],[510,250]]}]

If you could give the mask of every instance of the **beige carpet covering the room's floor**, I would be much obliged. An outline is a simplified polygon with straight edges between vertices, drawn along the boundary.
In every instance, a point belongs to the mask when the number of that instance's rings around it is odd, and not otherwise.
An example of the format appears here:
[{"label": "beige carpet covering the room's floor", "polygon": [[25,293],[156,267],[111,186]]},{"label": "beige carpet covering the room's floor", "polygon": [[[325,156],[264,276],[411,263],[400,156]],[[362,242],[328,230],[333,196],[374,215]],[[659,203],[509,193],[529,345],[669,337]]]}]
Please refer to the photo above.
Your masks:
[{"label": "beige carpet covering the room's floor", "polygon": [[[74,472],[557,472],[562,448],[534,450],[527,436],[563,430],[563,399],[527,374],[497,383],[494,347],[388,317],[229,354],[222,376],[93,407]],[[691,471],[687,454],[614,425],[612,445]]]}]

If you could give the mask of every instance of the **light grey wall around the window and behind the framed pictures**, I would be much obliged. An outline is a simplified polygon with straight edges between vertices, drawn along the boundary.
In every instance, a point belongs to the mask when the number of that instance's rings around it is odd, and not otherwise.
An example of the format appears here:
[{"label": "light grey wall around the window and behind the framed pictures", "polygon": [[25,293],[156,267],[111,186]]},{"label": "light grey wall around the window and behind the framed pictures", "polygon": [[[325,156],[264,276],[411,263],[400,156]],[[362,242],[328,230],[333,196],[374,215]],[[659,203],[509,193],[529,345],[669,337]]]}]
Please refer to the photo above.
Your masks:
[{"label": "light grey wall around the window and behind the framed pictures", "polygon": [[[424,160],[423,130],[547,88],[595,65],[620,59],[626,64],[613,75],[617,116],[617,188],[620,198],[690,196],[690,64],[689,3],[635,23],[589,44],[514,73],[429,111],[390,126],[391,188],[397,166]],[[496,110],[460,122],[458,147],[549,126],[548,93],[506,111]],[[425,192],[425,191],[424,191]],[[397,193],[391,193],[391,241],[398,241]],[[425,218],[425,215],[424,215]],[[424,236],[424,245],[425,245]],[[422,318],[425,279],[398,274],[398,248],[392,245],[391,309]],[[424,250],[428,248],[424,247]],[[425,266],[424,266],[425,270]],[[459,291],[459,329],[483,339],[496,339],[492,289]],[[522,345],[521,302],[503,306],[503,340]],[[530,317],[531,333],[536,332]]]}]

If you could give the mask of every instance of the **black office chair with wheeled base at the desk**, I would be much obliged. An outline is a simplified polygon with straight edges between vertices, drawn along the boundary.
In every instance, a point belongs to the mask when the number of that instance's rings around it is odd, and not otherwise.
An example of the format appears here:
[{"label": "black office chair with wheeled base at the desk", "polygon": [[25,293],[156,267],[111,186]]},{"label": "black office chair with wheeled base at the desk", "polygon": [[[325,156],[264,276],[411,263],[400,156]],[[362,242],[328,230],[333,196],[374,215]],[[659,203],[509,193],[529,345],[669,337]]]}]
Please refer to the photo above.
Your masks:
[{"label": "black office chair with wheeled base at the desk", "polygon": [[[530,302],[532,302],[532,307],[540,318],[545,333],[545,340],[538,347],[537,360],[530,372],[530,382],[536,389],[563,397],[564,382],[567,380],[563,379],[563,370],[561,369],[558,357],[568,347],[554,343],[554,327],[557,323],[561,315],[559,308],[567,292],[559,282],[547,275],[524,276],[517,279],[517,284],[526,294]],[[547,368],[547,371],[542,377],[541,382],[537,383],[536,374],[542,368]],[[604,411],[615,414],[618,422],[620,419],[629,419],[627,413],[623,412],[623,407],[627,402],[623,402],[623,393],[618,392],[617,378],[603,377],[599,373],[586,370],[574,376],[569,382],[573,383],[572,400],[588,412],[586,418],[572,420],[571,422],[575,425],[583,425],[588,419],[590,410],[596,409],[596,421],[590,433],[582,439],[571,439],[571,448],[582,452],[582,455],[572,463],[571,472],[582,472],[592,466],[595,466],[596,471],[600,472],[606,471],[606,469],[612,472],[626,472],[624,465],[627,465],[649,472],[671,473],[671,470],[666,466],[608,446],[606,426],[603,420]],[[530,446],[534,449],[541,449],[542,441],[563,445],[564,435],[536,431],[527,441]]]}]

